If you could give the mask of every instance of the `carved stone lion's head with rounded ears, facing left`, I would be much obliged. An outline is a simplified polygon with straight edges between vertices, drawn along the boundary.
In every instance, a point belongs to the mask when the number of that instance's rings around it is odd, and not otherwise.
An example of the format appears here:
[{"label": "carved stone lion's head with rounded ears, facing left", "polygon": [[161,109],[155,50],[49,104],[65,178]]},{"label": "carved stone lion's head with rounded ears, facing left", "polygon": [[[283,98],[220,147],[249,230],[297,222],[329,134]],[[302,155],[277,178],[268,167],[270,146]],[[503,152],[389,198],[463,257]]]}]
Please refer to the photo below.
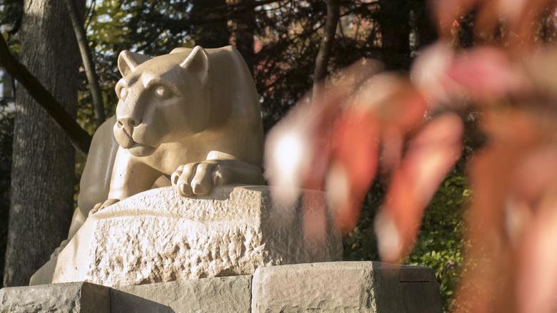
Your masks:
[{"label": "carved stone lion's head with rounded ears, facing left", "polygon": [[119,145],[146,156],[161,143],[204,130],[211,114],[209,65],[209,54],[200,46],[154,58],[122,51],[114,125]]}]

